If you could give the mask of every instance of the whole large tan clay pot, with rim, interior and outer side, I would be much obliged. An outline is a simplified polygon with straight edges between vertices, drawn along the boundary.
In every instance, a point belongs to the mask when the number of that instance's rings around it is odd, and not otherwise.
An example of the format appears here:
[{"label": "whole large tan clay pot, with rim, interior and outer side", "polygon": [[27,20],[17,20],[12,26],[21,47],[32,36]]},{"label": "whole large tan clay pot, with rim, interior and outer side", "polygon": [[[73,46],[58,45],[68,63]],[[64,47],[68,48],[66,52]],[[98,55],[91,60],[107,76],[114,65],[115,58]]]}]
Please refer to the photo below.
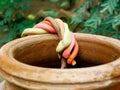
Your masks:
[{"label": "whole large tan clay pot, with rim, interior and outer side", "polygon": [[60,69],[53,34],[28,36],[0,50],[4,90],[119,90],[120,41],[104,36],[75,34],[77,65]]}]

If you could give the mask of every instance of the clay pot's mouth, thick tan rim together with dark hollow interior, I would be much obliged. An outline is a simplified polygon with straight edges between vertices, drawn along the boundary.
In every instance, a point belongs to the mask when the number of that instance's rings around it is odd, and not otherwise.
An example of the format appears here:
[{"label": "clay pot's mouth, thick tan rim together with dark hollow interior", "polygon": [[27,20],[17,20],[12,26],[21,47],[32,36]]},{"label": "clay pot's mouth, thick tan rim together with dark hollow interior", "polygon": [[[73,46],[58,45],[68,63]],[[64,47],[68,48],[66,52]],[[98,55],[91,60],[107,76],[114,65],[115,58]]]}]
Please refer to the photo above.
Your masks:
[{"label": "clay pot's mouth, thick tan rim together with dark hollow interior", "polygon": [[75,37],[79,44],[77,66],[60,69],[55,50],[58,37],[46,34],[24,37],[3,46],[0,68],[9,75],[50,83],[103,81],[120,75],[119,40],[80,33],[75,33]]}]

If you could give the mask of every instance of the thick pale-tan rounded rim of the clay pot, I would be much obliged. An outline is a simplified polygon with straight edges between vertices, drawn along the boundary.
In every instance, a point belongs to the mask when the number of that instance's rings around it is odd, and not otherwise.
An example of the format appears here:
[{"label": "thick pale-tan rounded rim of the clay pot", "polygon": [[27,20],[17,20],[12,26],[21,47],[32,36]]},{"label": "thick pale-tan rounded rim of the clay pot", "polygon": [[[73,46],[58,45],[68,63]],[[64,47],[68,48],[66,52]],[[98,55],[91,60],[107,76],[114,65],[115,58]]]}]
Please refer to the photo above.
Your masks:
[{"label": "thick pale-tan rounded rim of the clay pot", "polygon": [[[75,33],[75,36],[84,40],[84,38],[95,39],[96,41],[103,41],[115,46],[120,51],[120,41],[100,36],[83,33]],[[17,40],[13,40],[4,45],[0,50],[0,71],[7,72],[13,77],[23,78],[25,80],[32,80],[38,82],[49,83],[86,83],[86,82],[98,82],[111,78],[118,77],[120,75],[120,57],[110,63],[75,69],[55,69],[31,66],[17,61],[11,53],[13,47],[17,47],[18,44],[23,44],[26,41],[32,40],[44,40],[45,37],[50,39],[57,39],[58,37],[53,34],[46,35],[34,35]],[[46,38],[45,38],[46,39]],[[29,43],[29,42],[28,42]],[[11,53],[11,54],[10,54]],[[103,69],[104,68],[104,69]],[[109,68],[109,71],[108,71]]]}]

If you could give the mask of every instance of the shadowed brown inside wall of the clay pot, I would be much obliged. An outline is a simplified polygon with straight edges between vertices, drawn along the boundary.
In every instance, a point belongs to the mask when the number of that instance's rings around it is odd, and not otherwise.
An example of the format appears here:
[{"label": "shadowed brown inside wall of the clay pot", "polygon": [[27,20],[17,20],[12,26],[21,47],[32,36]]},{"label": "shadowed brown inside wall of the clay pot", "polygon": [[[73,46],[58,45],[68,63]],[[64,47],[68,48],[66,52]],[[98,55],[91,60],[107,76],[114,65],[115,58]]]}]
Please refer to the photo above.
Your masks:
[{"label": "shadowed brown inside wall of the clay pot", "polygon": [[[61,61],[56,53],[58,42],[57,39],[47,39],[19,44],[19,47],[14,49],[13,55],[16,60],[25,64],[46,68],[60,68]],[[79,44],[79,53],[75,58],[77,64],[75,66],[67,65],[67,68],[106,64],[120,57],[120,51],[112,44],[91,39],[77,39],[77,42]]]}]

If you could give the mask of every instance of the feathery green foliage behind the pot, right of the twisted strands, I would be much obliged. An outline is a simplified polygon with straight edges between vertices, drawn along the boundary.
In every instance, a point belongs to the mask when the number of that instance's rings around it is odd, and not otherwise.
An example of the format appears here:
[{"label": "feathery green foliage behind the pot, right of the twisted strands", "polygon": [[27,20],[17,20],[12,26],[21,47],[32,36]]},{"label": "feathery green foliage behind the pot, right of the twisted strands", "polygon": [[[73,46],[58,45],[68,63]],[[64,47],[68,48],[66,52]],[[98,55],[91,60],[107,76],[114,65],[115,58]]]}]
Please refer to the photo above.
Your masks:
[{"label": "feathery green foliage behind the pot, right of the twisted strands", "polygon": [[71,23],[78,23],[77,32],[120,39],[120,0],[85,0],[74,13]]}]

